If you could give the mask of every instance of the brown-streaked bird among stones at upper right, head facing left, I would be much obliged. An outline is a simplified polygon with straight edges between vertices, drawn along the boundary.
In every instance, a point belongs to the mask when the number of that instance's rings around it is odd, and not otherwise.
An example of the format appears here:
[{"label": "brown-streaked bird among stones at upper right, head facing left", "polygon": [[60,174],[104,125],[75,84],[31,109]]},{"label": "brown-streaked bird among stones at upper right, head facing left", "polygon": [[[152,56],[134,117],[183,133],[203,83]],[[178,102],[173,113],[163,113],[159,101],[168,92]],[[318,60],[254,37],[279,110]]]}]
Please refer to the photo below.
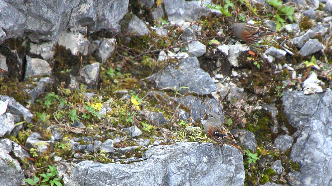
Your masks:
[{"label": "brown-streaked bird among stones at upper right, head facing left", "polygon": [[248,43],[254,43],[267,35],[278,35],[273,30],[265,28],[262,25],[249,23],[233,23],[230,30],[236,37]]}]

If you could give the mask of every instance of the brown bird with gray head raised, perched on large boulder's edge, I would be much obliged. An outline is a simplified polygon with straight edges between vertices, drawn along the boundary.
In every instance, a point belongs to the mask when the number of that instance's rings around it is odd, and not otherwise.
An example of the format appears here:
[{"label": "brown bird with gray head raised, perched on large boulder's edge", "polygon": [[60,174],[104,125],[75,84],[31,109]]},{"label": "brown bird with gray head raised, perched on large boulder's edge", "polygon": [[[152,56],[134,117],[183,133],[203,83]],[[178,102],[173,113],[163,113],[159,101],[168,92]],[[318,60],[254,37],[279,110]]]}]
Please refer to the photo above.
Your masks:
[{"label": "brown bird with gray head raised, perched on large boulder's edge", "polygon": [[237,148],[243,155],[246,154],[225,125],[221,123],[220,117],[216,113],[204,113],[204,115],[202,124],[204,126],[205,133],[209,138],[221,143],[221,147],[224,143],[226,143]]}]

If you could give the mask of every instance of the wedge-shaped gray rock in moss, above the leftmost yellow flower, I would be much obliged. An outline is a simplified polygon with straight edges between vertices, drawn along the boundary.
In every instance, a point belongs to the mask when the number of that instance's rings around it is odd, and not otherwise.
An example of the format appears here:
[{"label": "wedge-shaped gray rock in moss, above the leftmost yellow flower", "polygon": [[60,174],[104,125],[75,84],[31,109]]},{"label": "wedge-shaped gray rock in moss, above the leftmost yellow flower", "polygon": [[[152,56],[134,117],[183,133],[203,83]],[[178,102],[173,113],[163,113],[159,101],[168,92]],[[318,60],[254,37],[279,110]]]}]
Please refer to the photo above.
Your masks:
[{"label": "wedge-shaped gray rock in moss, above the leftmost yellow flower", "polygon": [[97,88],[99,70],[100,64],[98,62],[87,65],[80,70],[80,79],[82,79],[89,88]]}]

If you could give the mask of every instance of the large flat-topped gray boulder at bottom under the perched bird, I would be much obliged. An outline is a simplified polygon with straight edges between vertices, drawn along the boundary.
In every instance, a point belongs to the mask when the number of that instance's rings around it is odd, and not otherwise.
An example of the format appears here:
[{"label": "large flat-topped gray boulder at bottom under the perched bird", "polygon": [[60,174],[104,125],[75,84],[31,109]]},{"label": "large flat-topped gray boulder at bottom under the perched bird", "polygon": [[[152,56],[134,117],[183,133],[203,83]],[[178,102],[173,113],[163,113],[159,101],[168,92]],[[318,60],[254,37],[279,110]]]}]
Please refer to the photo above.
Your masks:
[{"label": "large flat-topped gray boulder at bottom under the perched bird", "polygon": [[64,185],[242,186],[244,182],[243,156],[231,146],[221,151],[211,143],[179,142],[152,147],[143,159],[130,164],[76,163],[64,175]]}]

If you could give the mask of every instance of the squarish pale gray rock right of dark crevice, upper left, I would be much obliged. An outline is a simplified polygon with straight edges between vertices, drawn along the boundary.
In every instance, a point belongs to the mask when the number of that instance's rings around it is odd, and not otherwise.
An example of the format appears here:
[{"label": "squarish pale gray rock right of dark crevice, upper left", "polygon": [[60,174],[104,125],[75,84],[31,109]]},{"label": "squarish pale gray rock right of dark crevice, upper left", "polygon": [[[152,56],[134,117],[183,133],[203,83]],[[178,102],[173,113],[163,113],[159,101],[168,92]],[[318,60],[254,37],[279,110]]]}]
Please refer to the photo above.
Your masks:
[{"label": "squarish pale gray rock right of dark crevice, upper left", "polygon": [[52,69],[50,68],[47,61],[38,58],[30,58],[29,56],[27,56],[26,58],[27,70],[25,71],[25,79],[38,75],[50,76],[52,74]]}]

